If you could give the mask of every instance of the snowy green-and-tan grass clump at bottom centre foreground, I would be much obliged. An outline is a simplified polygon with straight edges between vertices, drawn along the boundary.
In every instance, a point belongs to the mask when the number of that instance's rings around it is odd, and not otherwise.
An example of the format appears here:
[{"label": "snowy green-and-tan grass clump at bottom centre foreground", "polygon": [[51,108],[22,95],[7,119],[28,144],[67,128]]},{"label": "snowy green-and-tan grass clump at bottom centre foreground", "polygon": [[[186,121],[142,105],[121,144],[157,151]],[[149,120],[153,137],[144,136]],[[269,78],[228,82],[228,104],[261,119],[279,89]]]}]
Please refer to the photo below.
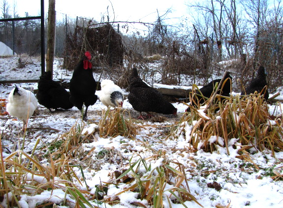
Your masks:
[{"label": "snowy green-and-tan grass clump at bottom centre foreground", "polygon": [[[104,198],[104,202],[108,204],[119,204],[119,195],[127,191],[139,192],[139,199],[146,200],[148,205],[142,203],[136,204],[140,207],[163,207],[164,198],[167,199],[169,205],[172,203],[180,203],[185,208],[185,201],[197,202],[189,191],[188,179],[186,178],[185,167],[178,161],[166,160],[166,152],[159,150],[148,158],[141,156],[134,163],[129,160],[128,169],[120,176],[116,174],[115,184],[126,182],[128,186],[123,191],[115,194],[115,196]],[[161,164],[155,168],[151,166],[151,161],[162,160]],[[142,170],[142,171],[140,171]]]}]

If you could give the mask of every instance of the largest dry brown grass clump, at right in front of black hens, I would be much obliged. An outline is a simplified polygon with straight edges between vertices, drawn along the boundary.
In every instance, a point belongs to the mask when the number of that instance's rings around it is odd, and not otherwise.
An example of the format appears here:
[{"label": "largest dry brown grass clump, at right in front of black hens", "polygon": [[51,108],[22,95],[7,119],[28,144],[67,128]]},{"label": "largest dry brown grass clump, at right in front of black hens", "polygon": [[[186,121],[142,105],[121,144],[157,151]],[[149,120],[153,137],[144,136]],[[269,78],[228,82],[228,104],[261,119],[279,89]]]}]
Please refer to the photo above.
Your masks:
[{"label": "largest dry brown grass clump, at right in front of black hens", "polygon": [[[216,108],[220,109],[217,113]],[[215,151],[220,145],[229,153],[228,142],[236,138],[243,152],[252,147],[259,151],[270,149],[273,154],[283,150],[282,118],[271,119],[262,96],[230,97],[224,103],[211,105],[206,114],[197,107],[190,107],[190,111],[184,114],[173,136],[185,136],[194,149]],[[213,136],[217,137],[214,142]]]}]

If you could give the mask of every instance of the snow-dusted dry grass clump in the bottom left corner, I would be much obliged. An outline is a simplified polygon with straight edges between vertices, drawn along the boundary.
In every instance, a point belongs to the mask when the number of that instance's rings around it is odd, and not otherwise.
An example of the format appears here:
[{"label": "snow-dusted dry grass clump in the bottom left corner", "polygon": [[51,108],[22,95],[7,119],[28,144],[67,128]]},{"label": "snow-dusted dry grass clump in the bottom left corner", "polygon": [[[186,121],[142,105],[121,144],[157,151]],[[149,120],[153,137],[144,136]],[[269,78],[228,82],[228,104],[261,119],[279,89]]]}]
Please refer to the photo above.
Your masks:
[{"label": "snow-dusted dry grass clump in the bottom left corner", "polygon": [[[64,154],[59,159],[53,159],[56,154],[62,152],[53,152],[50,154],[50,165],[41,164],[34,152],[39,144],[37,140],[31,154],[27,154],[22,150],[17,150],[11,153],[6,158],[3,158],[0,135],[0,196],[8,199],[7,207],[21,207],[19,200],[22,195],[34,196],[41,194],[44,191],[55,189],[63,189],[65,198],[62,198],[61,203],[65,206],[74,207],[94,207],[89,202],[90,192],[82,189],[81,179],[73,170],[74,167],[79,167],[84,178],[83,170],[80,166],[72,165],[70,158]],[[78,186],[76,183],[80,183]],[[86,187],[88,187],[86,185]],[[72,202],[67,198],[74,199]],[[43,200],[38,206],[50,206],[54,202],[48,199]]]}]

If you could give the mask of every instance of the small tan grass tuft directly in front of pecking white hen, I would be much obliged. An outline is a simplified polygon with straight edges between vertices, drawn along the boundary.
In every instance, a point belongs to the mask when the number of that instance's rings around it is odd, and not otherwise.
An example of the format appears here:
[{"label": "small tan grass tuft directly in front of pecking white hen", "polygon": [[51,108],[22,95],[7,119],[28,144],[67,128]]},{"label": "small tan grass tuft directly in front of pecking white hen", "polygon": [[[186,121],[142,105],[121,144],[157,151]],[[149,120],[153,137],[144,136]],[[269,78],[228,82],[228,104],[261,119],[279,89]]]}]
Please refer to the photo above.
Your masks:
[{"label": "small tan grass tuft directly in front of pecking white hen", "polygon": [[[128,113],[129,119],[125,119],[125,114]],[[99,120],[99,136],[100,137],[117,137],[124,136],[135,138],[136,127],[130,118],[130,113],[126,110],[122,111],[121,108],[114,110],[102,111],[102,119]]]}]

